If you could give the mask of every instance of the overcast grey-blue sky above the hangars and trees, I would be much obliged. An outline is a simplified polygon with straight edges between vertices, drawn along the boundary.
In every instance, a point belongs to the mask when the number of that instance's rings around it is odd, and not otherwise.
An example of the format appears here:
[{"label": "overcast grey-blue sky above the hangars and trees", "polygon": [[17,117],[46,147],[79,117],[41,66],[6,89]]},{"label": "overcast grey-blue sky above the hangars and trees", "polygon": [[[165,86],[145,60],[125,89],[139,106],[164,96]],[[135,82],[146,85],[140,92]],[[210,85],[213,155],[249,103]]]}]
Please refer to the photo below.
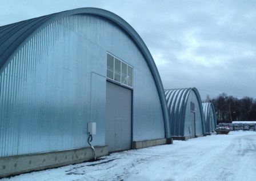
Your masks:
[{"label": "overcast grey-blue sky above the hangars and trees", "polygon": [[0,0],[0,26],[80,7],[125,19],[150,50],[164,89],[256,98],[256,0]]}]

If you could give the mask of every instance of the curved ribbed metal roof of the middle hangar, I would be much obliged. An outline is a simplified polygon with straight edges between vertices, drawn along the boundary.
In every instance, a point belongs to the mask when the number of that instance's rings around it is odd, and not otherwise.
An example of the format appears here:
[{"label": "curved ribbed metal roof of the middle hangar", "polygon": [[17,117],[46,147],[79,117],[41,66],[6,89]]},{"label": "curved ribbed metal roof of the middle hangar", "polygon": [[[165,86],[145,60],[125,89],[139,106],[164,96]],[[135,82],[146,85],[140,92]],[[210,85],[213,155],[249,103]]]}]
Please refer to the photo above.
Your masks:
[{"label": "curved ribbed metal roof of the middle hangar", "polygon": [[[171,135],[184,135],[186,107],[191,91],[194,91],[197,97],[199,108],[201,110],[201,118],[203,119],[204,115],[202,108],[202,100],[198,90],[195,87],[187,89],[165,90],[167,106],[170,113]],[[202,120],[203,134],[205,134],[204,122],[205,120]]]}]

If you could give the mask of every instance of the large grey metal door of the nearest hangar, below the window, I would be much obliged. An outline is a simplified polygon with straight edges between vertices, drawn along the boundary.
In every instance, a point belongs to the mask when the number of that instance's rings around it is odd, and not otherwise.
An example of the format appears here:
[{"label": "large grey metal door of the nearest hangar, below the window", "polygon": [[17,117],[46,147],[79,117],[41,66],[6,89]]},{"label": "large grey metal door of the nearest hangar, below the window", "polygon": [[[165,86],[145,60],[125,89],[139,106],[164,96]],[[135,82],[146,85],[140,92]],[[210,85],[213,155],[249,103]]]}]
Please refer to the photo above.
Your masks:
[{"label": "large grey metal door of the nearest hangar, below the window", "polygon": [[131,90],[107,82],[106,144],[109,152],[131,148]]}]

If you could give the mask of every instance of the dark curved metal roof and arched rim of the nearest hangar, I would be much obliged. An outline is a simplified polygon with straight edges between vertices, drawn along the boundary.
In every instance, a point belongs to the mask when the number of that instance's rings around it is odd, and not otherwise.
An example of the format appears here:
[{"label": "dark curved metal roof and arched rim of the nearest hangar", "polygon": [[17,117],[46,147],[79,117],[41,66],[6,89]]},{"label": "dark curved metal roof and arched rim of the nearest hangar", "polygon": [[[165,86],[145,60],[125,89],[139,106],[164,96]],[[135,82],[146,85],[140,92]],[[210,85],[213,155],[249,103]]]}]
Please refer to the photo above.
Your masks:
[{"label": "dark curved metal roof and arched rim of the nearest hangar", "polygon": [[147,65],[154,77],[155,85],[157,86],[158,95],[161,100],[163,117],[165,119],[165,134],[166,138],[170,137],[170,125],[169,125],[169,112],[167,110],[167,104],[165,94],[162,86],[162,81],[159,76],[157,67],[153,57],[151,56],[149,49],[139,37],[138,33],[118,15],[111,13],[110,11],[97,9],[97,8],[81,8],[68,11],[62,11],[60,13],[54,13],[45,15],[43,17],[33,18],[26,21],[13,23],[0,27],[0,73],[5,69],[6,65],[18,52],[18,50],[26,44],[35,34],[41,31],[46,26],[50,25],[54,21],[74,14],[93,14],[109,19],[111,22],[116,23],[119,27],[126,31],[127,34],[133,39],[135,44],[141,50],[141,53],[146,59]]}]

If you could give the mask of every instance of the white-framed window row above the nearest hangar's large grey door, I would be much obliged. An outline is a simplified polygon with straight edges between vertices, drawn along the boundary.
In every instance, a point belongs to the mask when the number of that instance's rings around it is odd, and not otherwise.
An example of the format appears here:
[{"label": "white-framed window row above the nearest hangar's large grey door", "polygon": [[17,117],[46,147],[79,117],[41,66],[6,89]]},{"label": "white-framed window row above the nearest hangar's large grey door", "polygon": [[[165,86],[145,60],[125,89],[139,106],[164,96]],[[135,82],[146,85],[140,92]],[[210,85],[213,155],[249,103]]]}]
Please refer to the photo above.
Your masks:
[{"label": "white-framed window row above the nearest hangar's large grey door", "polygon": [[107,78],[133,87],[133,67],[107,53]]}]

